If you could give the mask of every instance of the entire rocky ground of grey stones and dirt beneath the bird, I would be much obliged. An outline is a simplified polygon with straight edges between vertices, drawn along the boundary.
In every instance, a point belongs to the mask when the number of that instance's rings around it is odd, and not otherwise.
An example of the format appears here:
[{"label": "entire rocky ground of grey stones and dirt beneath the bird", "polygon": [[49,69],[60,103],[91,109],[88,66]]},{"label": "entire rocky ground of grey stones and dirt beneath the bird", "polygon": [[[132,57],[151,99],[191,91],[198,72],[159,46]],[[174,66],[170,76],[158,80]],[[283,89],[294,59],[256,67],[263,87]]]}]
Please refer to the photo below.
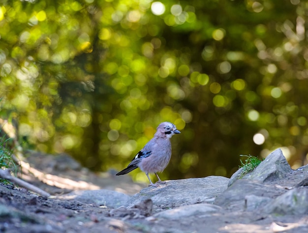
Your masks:
[{"label": "entire rocky ground of grey stones and dirt beneath the bird", "polygon": [[53,196],[2,184],[0,232],[308,233],[308,166],[292,170],[279,149],[239,180],[240,170],[158,188],[93,174],[66,155],[31,153],[28,163],[22,178]]}]

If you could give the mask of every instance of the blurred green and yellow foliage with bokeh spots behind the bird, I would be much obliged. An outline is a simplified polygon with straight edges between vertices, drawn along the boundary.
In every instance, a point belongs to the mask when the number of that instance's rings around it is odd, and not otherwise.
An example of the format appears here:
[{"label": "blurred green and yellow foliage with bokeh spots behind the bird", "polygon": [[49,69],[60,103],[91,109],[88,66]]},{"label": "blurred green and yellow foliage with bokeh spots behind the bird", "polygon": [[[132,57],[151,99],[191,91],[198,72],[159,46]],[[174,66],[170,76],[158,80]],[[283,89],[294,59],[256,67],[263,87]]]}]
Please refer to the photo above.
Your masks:
[{"label": "blurred green and yellow foliage with bokeh spots behind the bird", "polygon": [[[2,0],[0,117],[20,140],[122,169],[176,124],[163,178],[308,152],[303,0]],[[137,179],[144,174],[135,171]]]}]

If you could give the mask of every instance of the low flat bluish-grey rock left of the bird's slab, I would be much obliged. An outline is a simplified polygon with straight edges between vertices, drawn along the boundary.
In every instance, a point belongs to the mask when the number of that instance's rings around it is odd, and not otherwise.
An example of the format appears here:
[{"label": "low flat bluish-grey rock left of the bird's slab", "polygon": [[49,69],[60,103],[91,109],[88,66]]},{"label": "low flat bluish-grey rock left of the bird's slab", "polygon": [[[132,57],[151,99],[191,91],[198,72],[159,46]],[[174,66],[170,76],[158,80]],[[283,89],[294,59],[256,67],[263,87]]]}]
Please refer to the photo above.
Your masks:
[{"label": "low flat bluish-grey rock left of the bird's slab", "polygon": [[107,207],[117,208],[125,205],[130,196],[112,190],[78,190],[59,197],[66,200],[77,200],[82,203],[94,204],[97,206],[106,205]]}]

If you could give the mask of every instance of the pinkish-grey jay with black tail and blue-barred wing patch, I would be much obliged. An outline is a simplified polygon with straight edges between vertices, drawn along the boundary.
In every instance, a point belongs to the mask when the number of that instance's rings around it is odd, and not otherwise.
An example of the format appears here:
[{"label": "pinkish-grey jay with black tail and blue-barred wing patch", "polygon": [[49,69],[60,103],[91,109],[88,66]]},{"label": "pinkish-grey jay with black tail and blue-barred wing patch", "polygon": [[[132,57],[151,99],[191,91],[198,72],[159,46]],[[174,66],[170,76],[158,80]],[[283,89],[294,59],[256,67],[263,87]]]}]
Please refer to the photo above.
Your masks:
[{"label": "pinkish-grey jay with black tail and blue-barred wing patch", "polygon": [[[171,158],[170,138],[174,134],[181,133],[176,126],[170,122],[162,122],[158,125],[154,137],[137,153],[128,166],[116,175],[124,175],[139,167],[146,173],[150,184],[159,187],[159,184],[166,184],[162,181],[157,172],[162,172],[169,164]],[[154,173],[158,181],[154,184],[150,179],[149,173]]]}]

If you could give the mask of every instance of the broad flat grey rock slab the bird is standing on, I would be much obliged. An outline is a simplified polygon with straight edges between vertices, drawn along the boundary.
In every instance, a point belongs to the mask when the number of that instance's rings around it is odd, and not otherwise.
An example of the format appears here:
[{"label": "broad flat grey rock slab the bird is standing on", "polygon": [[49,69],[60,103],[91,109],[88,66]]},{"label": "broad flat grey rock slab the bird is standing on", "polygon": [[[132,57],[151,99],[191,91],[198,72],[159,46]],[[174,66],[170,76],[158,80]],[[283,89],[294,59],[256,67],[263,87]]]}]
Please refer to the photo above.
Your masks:
[{"label": "broad flat grey rock slab the bird is standing on", "polygon": [[131,207],[141,200],[152,199],[154,212],[164,208],[195,203],[213,203],[215,198],[227,189],[229,178],[222,176],[208,176],[204,178],[190,178],[170,180],[166,185],[142,189],[134,195],[126,207]]}]

